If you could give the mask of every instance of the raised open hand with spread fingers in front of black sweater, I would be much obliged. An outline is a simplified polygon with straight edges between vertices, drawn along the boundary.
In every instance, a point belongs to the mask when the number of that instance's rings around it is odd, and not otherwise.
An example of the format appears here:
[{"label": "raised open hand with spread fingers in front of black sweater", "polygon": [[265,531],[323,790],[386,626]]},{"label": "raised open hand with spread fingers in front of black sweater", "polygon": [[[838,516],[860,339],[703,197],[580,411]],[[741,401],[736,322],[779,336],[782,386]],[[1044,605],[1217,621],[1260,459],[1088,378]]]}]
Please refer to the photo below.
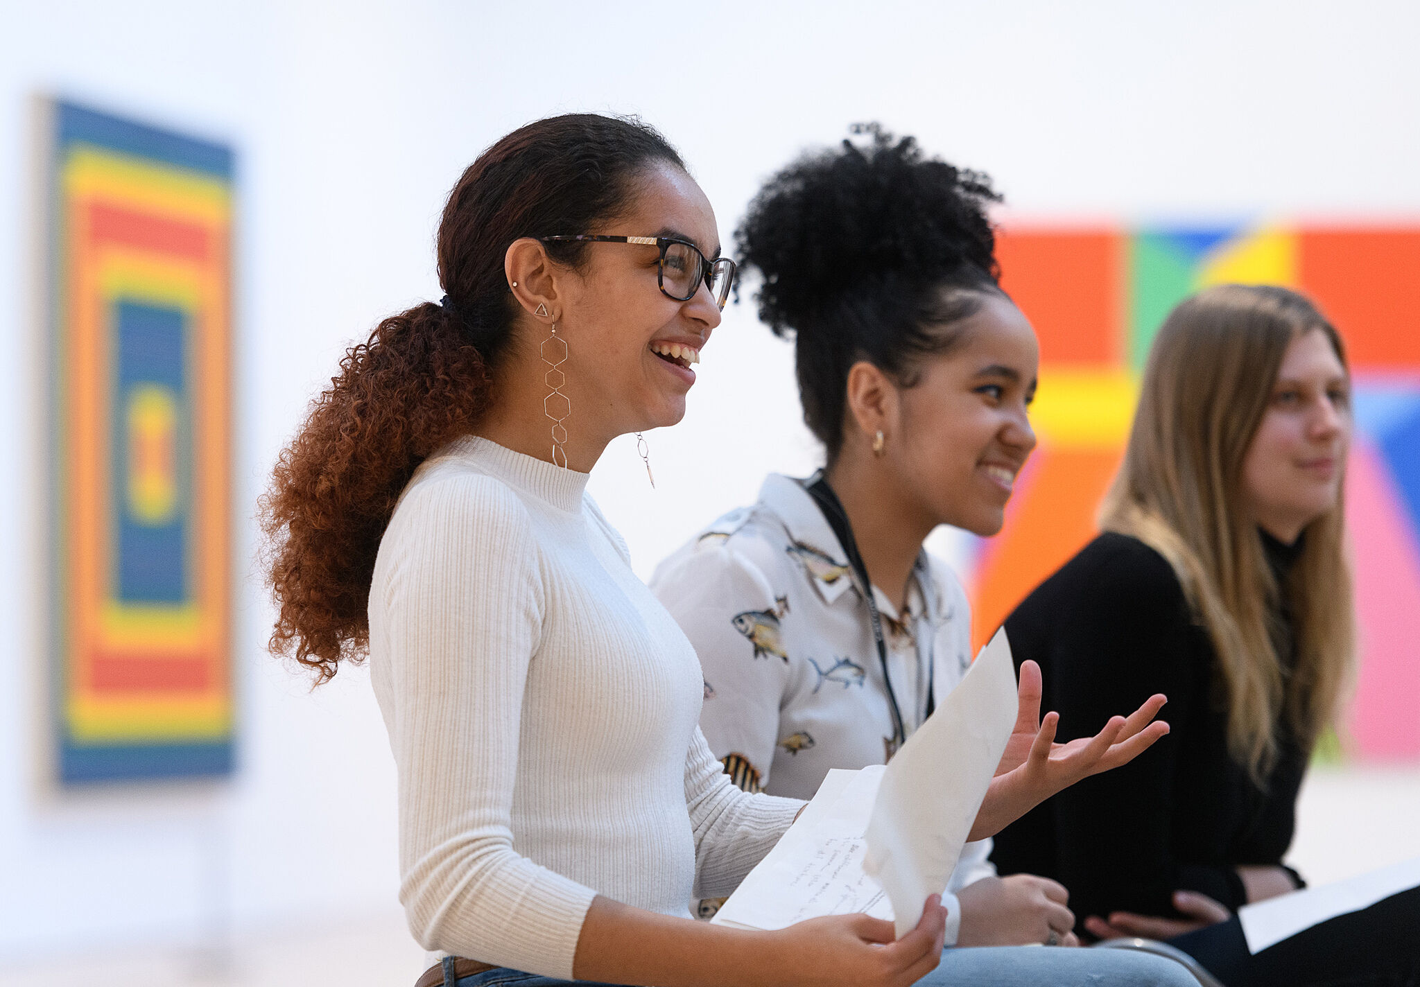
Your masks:
[{"label": "raised open hand with spread fingers in front of black sweater", "polygon": [[1110,717],[1093,737],[1056,744],[1059,713],[1047,713],[1041,719],[1041,667],[1035,662],[1022,662],[1015,727],[968,839],[984,839],[1000,832],[1081,778],[1118,768],[1139,757],[1169,733],[1167,723],[1154,721],[1166,702],[1163,696],[1150,696],[1127,719]]}]

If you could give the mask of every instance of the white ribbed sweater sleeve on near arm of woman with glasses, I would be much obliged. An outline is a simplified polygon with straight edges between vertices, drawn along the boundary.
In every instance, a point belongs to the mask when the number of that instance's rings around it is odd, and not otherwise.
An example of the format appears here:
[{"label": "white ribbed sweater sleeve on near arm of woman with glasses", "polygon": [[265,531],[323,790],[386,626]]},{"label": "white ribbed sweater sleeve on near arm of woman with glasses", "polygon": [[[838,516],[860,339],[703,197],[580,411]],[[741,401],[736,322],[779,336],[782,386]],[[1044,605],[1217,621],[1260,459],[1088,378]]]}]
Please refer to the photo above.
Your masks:
[{"label": "white ribbed sweater sleeve on near arm of woman with glasses", "polygon": [[545,606],[531,518],[496,480],[432,481],[410,491],[381,552],[410,930],[430,950],[571,980],[595,892],[521,856],[510,827]]}]

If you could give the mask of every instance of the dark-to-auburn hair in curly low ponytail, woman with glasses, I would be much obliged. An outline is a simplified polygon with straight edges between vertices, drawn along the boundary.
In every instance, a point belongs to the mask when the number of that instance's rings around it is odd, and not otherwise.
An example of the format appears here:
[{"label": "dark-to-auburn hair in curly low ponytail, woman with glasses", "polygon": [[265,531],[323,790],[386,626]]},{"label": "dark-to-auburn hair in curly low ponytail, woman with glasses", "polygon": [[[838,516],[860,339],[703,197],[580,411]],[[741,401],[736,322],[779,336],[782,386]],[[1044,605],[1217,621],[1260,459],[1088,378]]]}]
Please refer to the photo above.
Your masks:
[{"label": "dark-to-auburn hair in curly low ponytail, woman with glasses", "polygon": [[[520,237],[586,233],[615,216],[652,162],[684,162],[635,119],[568,114],[528,124],[463,173],[439,224],[442,305],[382,321],[281,450],[260,501],[267,582],[278,614],[270,649],[329,680],[368,643],[375,555],[415,469],[473,432],[515,318],[503,257]],[[547,244],[582,261],[585,244]]]}]

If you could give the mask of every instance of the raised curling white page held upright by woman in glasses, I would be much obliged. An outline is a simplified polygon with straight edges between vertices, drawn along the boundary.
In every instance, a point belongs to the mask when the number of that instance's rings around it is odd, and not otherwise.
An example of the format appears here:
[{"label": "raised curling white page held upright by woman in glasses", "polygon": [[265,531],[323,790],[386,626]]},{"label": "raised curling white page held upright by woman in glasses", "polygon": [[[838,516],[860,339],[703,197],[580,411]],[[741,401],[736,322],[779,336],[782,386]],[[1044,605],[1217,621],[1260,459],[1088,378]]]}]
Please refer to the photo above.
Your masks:
[{"label": "raised curling white page held upright by woman in glasses", "polygon": [[1015,713],[1015,666],[1001,628],[961,685],[888,763],[863,865],[892,902],[899,939],[922,919],[927,896],[947,886]]}]

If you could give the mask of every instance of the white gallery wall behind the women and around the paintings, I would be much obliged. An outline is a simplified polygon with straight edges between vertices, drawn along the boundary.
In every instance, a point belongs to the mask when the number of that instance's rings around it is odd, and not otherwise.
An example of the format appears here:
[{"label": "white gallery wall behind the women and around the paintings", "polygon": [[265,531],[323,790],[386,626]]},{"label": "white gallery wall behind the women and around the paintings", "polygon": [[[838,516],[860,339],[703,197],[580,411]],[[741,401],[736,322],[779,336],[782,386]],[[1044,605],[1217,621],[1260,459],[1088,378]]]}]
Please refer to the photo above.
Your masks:
[{"label": "white gallery wall behind the women and around the paintings", "polygon": [[[460,170],[541,115],[636,112],[731,236],[805,145],[879,119],[1032,219],[1420,217],[1420,7],[1304,3],[540,4],[0,0],[0,966],[396,907],[393,771],[364,670],[315,693],[263,650],[254,500],[305,402],[385,314],[437,298]],[[239,155],[240,768],[43,782],[44,474],[30,101],[57,94]],[[764,473],[816,459],[791,355],[731,307],[684,423],[592,490],[638,571]]]}]

